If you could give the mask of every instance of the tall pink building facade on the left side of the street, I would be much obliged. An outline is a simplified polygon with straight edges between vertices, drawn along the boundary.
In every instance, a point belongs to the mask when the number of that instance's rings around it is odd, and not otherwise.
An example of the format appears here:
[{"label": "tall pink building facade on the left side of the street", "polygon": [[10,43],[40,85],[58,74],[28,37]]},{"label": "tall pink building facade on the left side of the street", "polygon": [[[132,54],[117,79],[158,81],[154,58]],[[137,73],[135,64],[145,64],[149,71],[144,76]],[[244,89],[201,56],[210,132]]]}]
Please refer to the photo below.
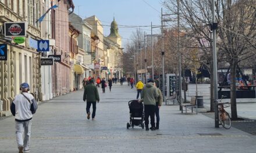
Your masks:
[{"label": "tall pink building facade on the left side of the street", "polygon": [[52,92],[59,96],[70,89],[69,61],[69,9],[74,9],[72,0],[52,1],[58,8],[52,10],[52,38],[56,46],[54,54],[61,55],[61,62],[55,62],[52,67]]}]

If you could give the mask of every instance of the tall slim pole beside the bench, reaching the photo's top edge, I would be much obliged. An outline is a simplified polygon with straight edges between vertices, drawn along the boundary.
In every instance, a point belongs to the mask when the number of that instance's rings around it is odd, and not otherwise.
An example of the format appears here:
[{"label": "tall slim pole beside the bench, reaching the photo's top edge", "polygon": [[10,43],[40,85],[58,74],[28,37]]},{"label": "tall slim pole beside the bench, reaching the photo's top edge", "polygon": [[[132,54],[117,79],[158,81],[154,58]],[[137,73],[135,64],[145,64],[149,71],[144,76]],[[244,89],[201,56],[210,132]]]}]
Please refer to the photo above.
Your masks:
[{"label": "tall slim pole beside the bench, reaching the photo's top edge", "polygon": [[182,54],[180,53],[180,1],[177,0],[177,19],[178,19],[178,53],[179,53],[179,101],[182,110]]}]

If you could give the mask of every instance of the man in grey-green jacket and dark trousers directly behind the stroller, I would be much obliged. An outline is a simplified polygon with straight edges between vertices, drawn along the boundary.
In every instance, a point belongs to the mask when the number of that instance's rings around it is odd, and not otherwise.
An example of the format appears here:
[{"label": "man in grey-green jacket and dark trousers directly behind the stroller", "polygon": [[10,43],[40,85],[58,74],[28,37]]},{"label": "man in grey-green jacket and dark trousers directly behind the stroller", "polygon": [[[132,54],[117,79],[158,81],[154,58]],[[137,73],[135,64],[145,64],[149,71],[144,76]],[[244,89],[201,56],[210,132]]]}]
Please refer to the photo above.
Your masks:
[{"label": "man in grey-green jacket and dark trousers directly behind the stroller", "polygon": [[155,130],[155,99],[159,96],[157,88],[152,79],[148,80],[141,92],[141,101],[144,101],[145,130],[148,129],[148,118],[150,116],[151,130]]}]

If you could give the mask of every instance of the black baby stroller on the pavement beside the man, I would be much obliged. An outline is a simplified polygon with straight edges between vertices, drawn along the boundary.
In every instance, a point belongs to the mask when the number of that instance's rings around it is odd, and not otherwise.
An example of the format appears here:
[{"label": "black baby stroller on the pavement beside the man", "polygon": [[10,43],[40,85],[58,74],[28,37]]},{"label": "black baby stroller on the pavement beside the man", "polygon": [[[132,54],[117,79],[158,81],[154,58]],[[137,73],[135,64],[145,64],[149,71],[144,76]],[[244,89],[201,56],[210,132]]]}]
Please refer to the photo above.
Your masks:
[{"label": "black baby stroller on the pavement beside the man", "polygon": [[141,126],[142,129],[144,129],[144,105],[141,102],[138,102],[138,100],[131,100],[128,102],[129,109],[130,109],[130,123],[127,123],[127,129],[129,127],[134,126]]}]

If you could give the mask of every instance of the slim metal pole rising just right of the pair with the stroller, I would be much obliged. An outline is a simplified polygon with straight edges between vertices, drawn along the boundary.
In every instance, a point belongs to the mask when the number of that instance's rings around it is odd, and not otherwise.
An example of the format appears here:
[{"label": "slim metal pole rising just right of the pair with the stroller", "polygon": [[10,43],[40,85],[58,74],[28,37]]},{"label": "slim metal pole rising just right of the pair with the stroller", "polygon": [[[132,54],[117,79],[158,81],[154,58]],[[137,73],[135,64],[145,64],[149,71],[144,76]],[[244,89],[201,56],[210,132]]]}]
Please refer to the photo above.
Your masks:
[{"label": "slim metal pole rising just right of the pair with the stroller", "polygon": [[162,94],[165,99],[165,51],[163,50],[163,8],[161,8],[161,38],[162,38]]}]

